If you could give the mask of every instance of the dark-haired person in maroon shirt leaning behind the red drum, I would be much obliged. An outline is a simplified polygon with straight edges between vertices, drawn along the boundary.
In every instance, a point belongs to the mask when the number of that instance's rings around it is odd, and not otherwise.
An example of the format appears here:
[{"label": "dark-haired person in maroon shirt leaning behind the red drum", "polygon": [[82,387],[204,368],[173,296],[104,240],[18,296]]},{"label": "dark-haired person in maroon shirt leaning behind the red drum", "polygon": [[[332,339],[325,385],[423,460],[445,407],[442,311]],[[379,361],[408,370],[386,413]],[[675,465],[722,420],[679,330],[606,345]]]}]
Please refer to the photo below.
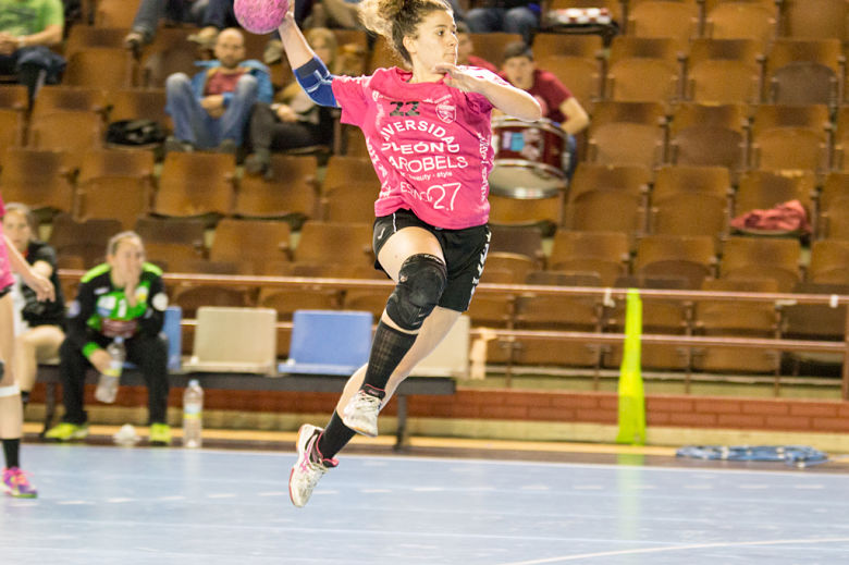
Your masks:
[{"label": "dark-haired person in maroon shirt leaning behind the red drum", "polygon": [[542,107],[542,115],[559,124],[566,133],[569,155],[566,176],[571,179],[577,165],[575,135],[590,124],[587,111],[554,73],[537,69],[533,52],[521,41],[509,44],[504,49],[502,71],[502,78],[533,95]]}]

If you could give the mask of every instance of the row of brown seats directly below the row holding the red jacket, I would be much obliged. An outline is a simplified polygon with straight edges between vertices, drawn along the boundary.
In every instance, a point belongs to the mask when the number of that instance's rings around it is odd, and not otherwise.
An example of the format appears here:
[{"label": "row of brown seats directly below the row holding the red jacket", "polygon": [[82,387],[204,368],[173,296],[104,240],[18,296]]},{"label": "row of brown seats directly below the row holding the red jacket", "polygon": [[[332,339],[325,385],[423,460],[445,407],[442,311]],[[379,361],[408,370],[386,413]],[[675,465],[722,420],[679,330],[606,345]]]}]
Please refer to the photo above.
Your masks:
[{"label": "row of brown seats directly below the row holding the red jacket", "polygon": [[[292,274],[372,278],[371,229],[367,222],[306,221],[293,236],[286,222],[225,218],[213,229],[197,219],[139,217],[133,226],[146,242],[150,260],[174,272],[220,274]],[[74,220],[60,214],[50,243],[62,265],[89,268],[102,259],[108,238],[123,229],[116,220]],[[524,284],[533,271],[586,274],[614,285],[633,275],[669,279],[680,288],[699,288],[714,278],[764,278],[782,292],[802,281],[849,284],[849,241],[814,242],[803,263],[801,244],[792,237],[645,235],[611,231],[558,231],[550,253],[532,229],[492,226],[492,247],[484,282]],[[208,244],[208,242],[211,242]],[[561,284],[536,281],[544,284]],[[566,283],[564,283],[566,284]],[[574,284],[574,283],[571,283]]]}]

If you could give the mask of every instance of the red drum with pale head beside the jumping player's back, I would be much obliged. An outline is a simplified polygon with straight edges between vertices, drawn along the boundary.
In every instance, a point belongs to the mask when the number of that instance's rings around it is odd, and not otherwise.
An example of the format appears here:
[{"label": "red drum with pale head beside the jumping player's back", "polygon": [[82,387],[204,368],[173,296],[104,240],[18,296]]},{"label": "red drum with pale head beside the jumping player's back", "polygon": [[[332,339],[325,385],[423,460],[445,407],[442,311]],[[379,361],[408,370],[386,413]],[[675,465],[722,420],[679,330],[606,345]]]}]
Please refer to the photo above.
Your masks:
[{"label": "red drum with pale head beside the jumping player's back", "polygon": [[492,119],[495,163],[490,192],[510,198],[550,198],[565,191],[566,134],[551,120]]}]

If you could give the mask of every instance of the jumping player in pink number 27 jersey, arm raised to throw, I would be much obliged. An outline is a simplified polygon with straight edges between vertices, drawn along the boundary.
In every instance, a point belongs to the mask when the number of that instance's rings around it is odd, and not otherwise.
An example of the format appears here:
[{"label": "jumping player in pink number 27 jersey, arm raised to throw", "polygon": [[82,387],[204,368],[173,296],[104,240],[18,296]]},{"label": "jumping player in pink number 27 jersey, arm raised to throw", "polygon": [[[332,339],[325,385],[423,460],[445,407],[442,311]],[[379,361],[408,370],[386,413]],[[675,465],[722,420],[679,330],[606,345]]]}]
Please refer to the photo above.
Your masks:
[{"label": "jumping player in pink number 27 jersey, arm raised to throw", "polygon": [[374,332],[369,361],[348,380],[322,430],[302,426],[290,496],[304,506],[355,433],[378,434],[378,413],[397,385],[468,309],[489,249],[490,114],[541,116],[532,96],[497,75],[457,66],[454,14],[445,0],[364,0],[365,26],[387,39],[409,70],[333,76],[292,13],[280,26],[302,87],[342,108],[362,130],[381,182],[374,202],[376,267],[395,290]]}]

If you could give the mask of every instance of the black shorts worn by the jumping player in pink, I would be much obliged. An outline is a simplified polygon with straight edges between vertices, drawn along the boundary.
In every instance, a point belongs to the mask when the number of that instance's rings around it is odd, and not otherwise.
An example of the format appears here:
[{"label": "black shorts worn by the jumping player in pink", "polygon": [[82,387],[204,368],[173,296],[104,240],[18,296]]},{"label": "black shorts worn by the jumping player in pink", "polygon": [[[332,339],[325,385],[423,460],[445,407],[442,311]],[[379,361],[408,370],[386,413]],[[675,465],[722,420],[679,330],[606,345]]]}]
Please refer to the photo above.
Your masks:
[{"label": "black shorts worn by the jumping player in pink", "polygon": [[[432,233],[442,247],[445,265],[448,270],[448,282],[442,293],[439,305],[443,308],[465,312],[469,309],[471,295],[478,286],[483,272],[483,262],[490,248],[490,229],[484,225],[466,228],[464,230],[444,230],[426,223],[409,210],[401,209],[389,216],[374,220],[372,247],[374,256],[380,256],[380,249],[392,234],[404,228],[422,228]],[[374,268],[383,270],[379,261]]]}]

